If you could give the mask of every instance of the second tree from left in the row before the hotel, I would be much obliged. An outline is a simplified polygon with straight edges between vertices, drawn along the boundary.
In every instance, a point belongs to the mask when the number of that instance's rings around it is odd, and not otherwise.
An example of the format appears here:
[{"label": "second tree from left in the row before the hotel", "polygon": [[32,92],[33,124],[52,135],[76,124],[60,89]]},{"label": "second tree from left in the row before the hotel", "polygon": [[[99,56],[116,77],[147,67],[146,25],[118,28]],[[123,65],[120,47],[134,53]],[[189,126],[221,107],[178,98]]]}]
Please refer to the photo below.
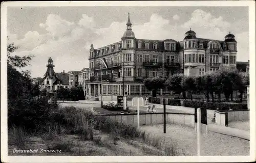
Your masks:
[{"label": "second tree from left in the row before the hotel", "polygon": [[183,76],[184,76],[183,74],[174,74],[174,75],[170,76],[165,81],[165,86],[168,88],[168,90],[174,91],[175,93],[178,93],[179,95],[182,92],[183,99],[185,99],[186,94],[181,86],[181,81],[182,81]]}]

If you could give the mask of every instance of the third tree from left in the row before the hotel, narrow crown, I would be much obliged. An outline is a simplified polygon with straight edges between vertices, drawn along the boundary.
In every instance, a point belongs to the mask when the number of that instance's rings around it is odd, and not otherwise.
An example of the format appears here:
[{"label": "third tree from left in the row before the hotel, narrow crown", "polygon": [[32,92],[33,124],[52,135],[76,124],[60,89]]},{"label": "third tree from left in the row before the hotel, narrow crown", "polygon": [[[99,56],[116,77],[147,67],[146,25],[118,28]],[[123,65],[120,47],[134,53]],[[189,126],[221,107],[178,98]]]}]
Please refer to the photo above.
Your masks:
[{"label": "third tree from left in the row before the hotel, narrow crown", "polygon": [[193,100],[192,94],[196,91],[195,77],[183,76],[181,80],[181,87],[183,90],[187,91],[192,101]]}]

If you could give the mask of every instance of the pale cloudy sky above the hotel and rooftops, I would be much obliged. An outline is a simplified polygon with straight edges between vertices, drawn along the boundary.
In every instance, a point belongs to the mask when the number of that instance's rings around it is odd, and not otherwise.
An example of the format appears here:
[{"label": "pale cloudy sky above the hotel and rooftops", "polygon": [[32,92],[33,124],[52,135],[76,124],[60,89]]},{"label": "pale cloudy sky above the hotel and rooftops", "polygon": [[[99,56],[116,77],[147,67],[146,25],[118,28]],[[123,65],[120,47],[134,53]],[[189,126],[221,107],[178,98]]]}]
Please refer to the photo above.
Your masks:
[{"label": "pale cloudy sky above the hotel and rooftops", "polygon": [[223,40],[230,32],[238,42],[237,61],[249,60],[248,7],[8,7],[8,42],[13,55],[33,55],[26,69],[42,77],[51,57],[55,72],[89,67],[89,49],[121,40],[128,13],[138,39],[182,41],[197,37]]}]

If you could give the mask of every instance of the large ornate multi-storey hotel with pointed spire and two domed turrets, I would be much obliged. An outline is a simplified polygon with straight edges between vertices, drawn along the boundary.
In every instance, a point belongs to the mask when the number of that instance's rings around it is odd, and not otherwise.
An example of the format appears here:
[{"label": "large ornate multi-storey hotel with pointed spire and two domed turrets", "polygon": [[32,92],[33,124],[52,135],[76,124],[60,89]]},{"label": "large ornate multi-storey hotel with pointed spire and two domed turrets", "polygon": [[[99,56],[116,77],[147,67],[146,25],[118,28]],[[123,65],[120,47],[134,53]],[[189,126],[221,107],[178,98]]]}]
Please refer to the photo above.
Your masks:
[{"label": "large ornate multi-storey hotel with pointed spire and two domed turrets", "polygon": [[[146,77],[168,77],[175,73],[195,76],[223,68],[236,69],[236,57],[237,41],[230,33],[224,41],[197,38],[191,29],[182,41],[138,39],[129,15],[119,42],[100,48],[91,44],[88,77],[80,82],[89,98],[101,92],[123,95],[123,90],[124,95],[146,95],[151,94],[142,83]],[[170,91],[158,90],[157,94]]]}]

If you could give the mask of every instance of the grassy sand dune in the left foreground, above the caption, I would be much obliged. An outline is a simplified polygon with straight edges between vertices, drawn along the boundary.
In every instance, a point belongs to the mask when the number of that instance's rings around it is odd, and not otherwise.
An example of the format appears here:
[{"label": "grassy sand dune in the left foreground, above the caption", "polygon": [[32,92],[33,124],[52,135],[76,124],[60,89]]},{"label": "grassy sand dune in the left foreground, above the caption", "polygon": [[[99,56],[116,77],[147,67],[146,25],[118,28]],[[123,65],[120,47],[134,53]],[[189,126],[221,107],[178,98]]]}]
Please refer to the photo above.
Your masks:
[{"label": "grassy sand dune in the left foreground, above the caption", "polygon": [[[47,125],[38,125],[33,131],[23,126],[10,127],[9,155],[178,155],[173,143],[167,144],[136,127],[81,108],[57,108],[48,116]],[[14,148],[38,149],[38,152],[13,153]],[[39,153],[40,149],[61,150],[61,153]]]}]

